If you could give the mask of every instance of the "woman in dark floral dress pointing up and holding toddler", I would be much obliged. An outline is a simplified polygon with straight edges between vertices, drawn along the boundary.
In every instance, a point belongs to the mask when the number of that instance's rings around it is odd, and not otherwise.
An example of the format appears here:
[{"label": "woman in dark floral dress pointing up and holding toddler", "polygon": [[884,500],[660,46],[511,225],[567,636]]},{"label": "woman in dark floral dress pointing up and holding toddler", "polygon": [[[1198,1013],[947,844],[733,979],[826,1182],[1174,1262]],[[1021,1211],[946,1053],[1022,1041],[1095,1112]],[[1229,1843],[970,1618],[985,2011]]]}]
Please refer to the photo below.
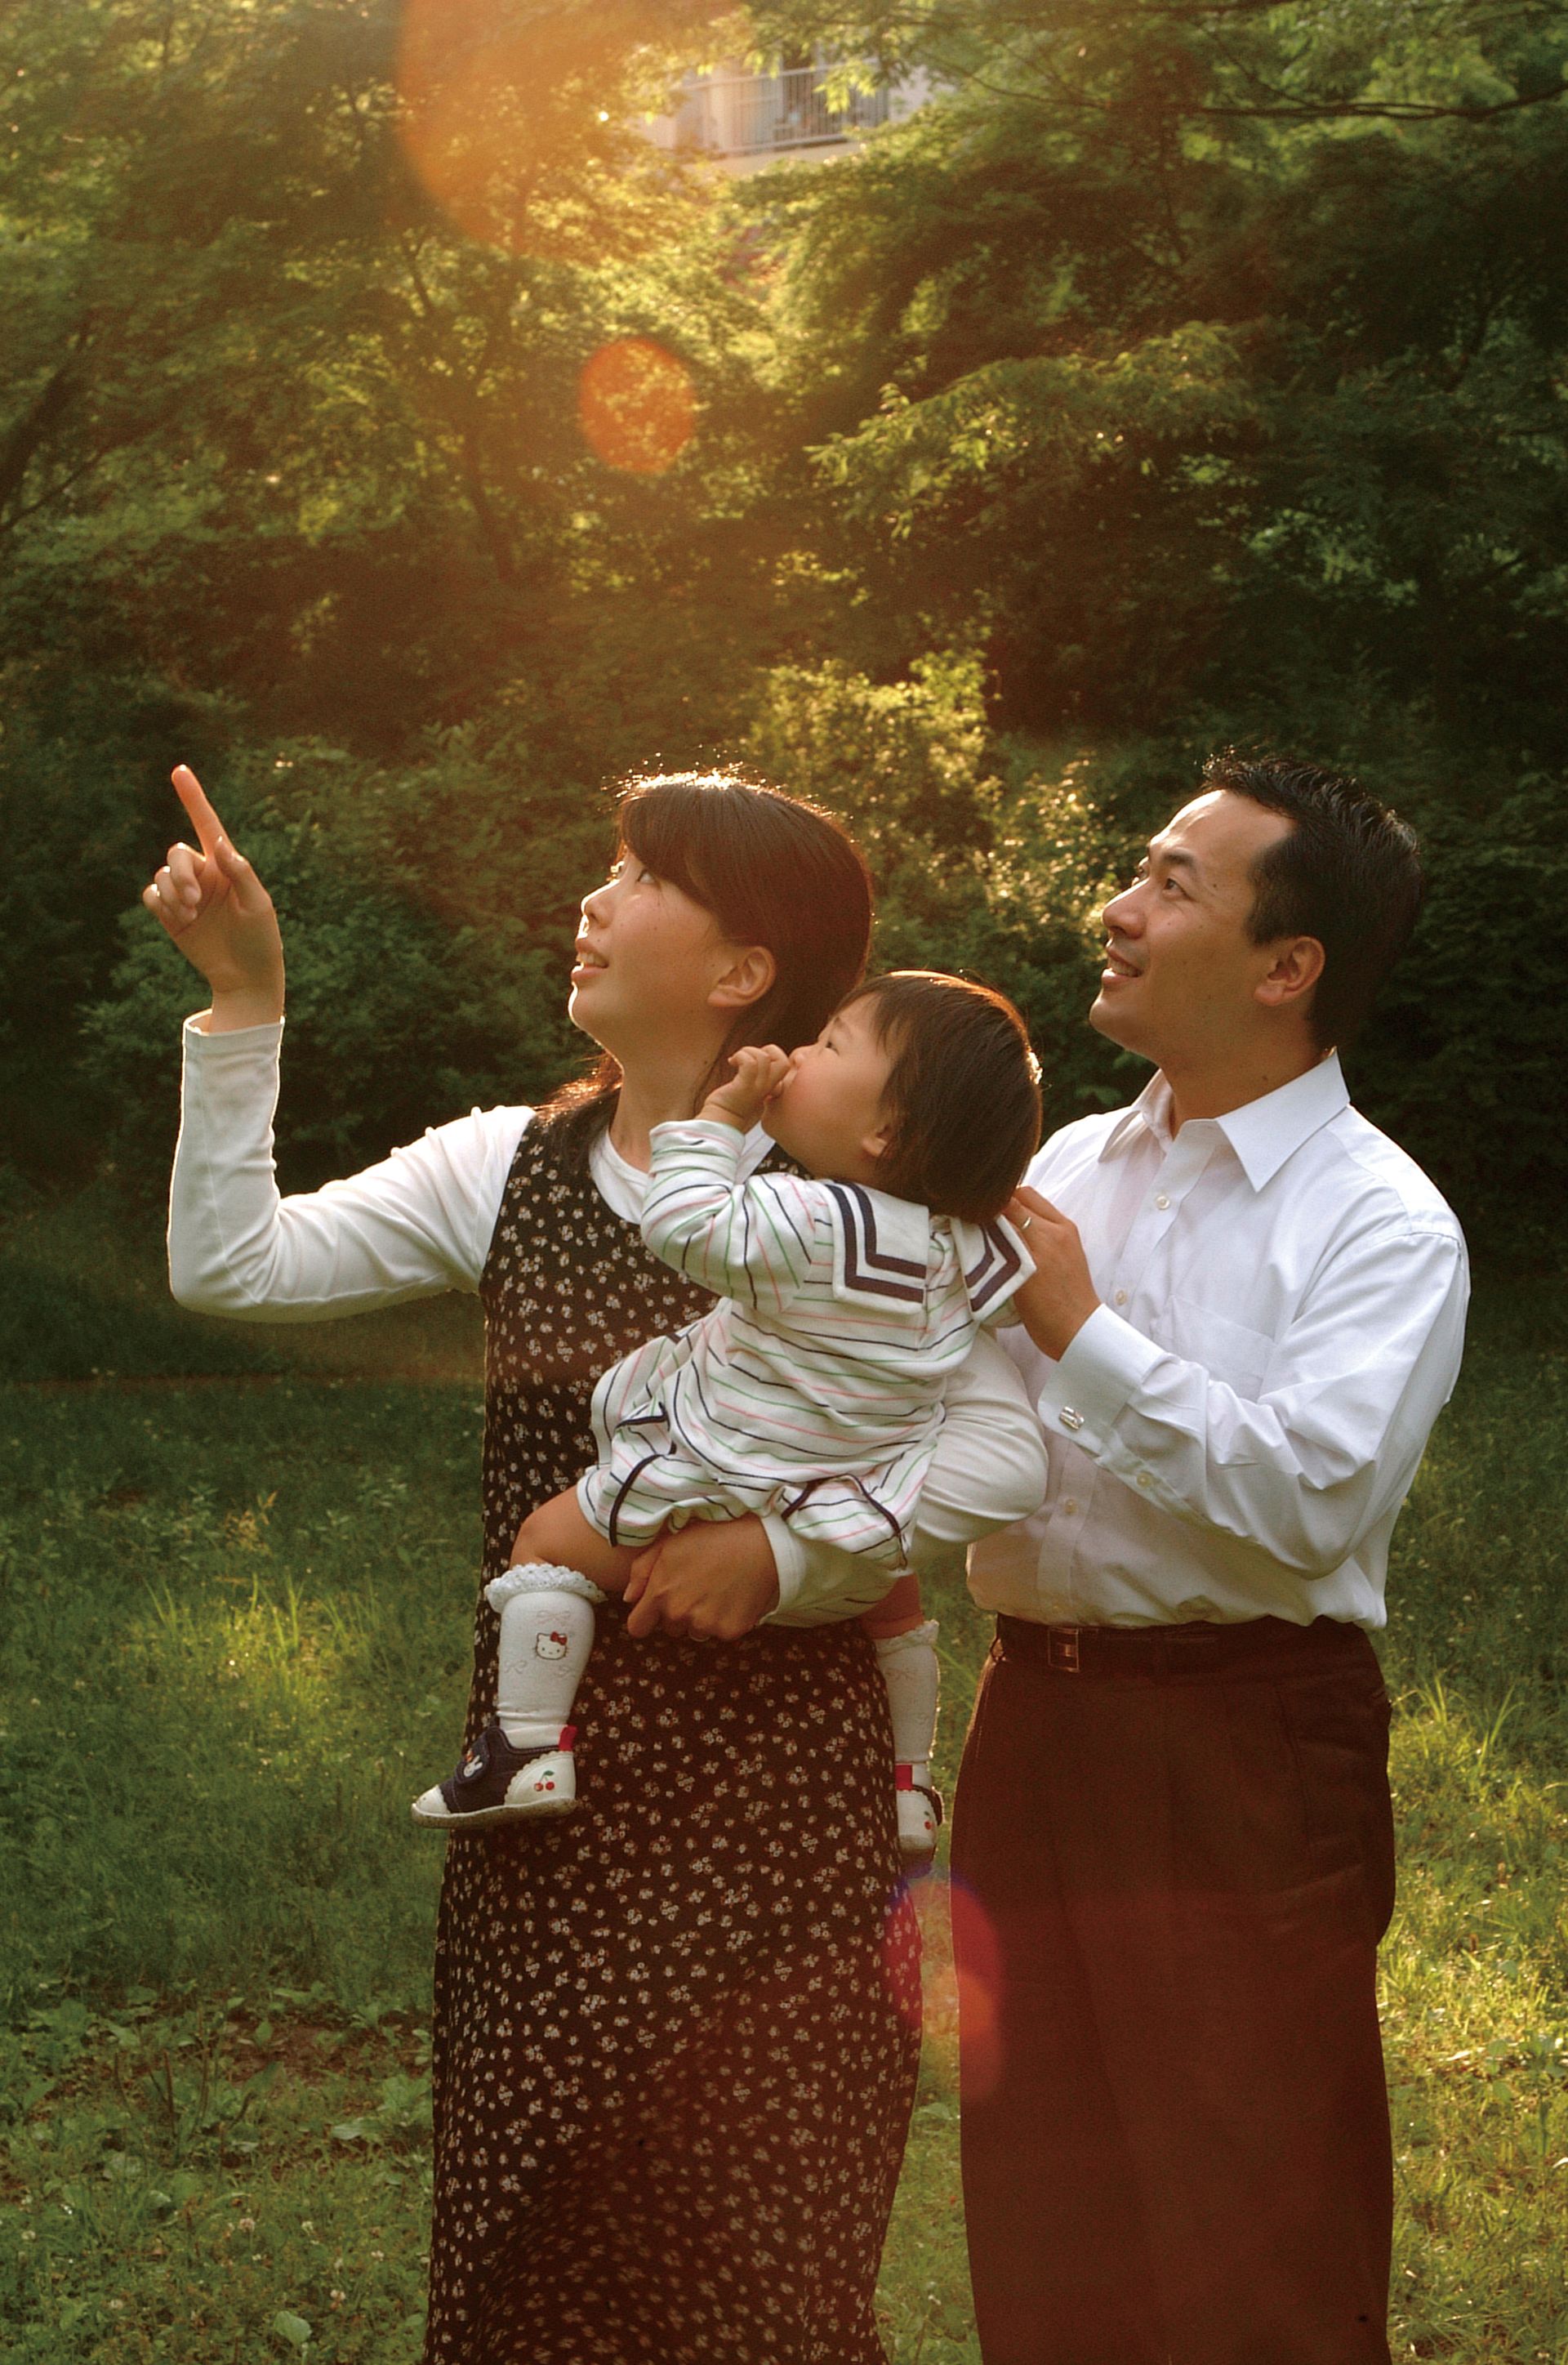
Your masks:
[{"label": "woman in dark floral dress pointing up and holding toddler", "polygon": [[[636,1227],[648,1128],[740,1043],[811,1038],[858,979],[866,868],[823,814],[724,778],[639,783],[582,903],[570,1012],[603,1057],[544,1109],[473,1112],[279,1199],[281,939],[189,771],[201,851],[147,906],[213,1005],[184,1031],[175,1294],[326,1320],[485,1303],[485,1577],[591,1459],[594,1376],[707,1298]],[[754,1161],[769,1154],[757,1135]],[[922,1530],[1038,1502],[1038,1436],[984,1341]],[[875,1596],[877,1582],[870,1582]],[[610,1606],[579,1693],[584,1807],[449,1842],[435,1958],[428,2365],[870,2365],[908,2126],[918,1951],[863,1563],[693,1523]],[[792,1620],[792,1632],[771,1618]],[[468,1731],[494,1708],[482,1594]]]}]

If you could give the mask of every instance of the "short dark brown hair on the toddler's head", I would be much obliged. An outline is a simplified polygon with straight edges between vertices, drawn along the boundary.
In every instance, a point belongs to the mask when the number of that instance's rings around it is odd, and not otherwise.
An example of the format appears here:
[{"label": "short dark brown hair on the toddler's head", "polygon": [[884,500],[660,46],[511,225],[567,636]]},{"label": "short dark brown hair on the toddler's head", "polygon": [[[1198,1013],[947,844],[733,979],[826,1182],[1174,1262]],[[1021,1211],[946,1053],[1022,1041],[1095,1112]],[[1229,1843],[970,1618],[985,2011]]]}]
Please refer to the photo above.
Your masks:
[{"label": "short dark brown hair on the toddler's head", "polygon": [[892,1052],[894,1140],[877,1190],[937,1216],[989,1223],[1041,1147],[1041,1064],[1005,993],[937,970],[870,977],[840,1005],[873,1003]]}]

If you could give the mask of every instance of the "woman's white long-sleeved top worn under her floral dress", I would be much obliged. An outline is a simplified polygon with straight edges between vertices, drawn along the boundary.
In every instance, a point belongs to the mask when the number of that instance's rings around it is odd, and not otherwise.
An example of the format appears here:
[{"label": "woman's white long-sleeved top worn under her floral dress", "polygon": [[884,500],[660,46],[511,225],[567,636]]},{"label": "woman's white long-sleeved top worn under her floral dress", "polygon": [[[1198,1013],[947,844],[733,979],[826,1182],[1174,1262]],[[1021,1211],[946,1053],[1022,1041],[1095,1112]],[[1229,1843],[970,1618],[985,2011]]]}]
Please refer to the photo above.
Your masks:
[{"label": "woman's white long-sleeved top worn under her floral dress", "polygon": [[[180,1147],[168,1201],[175,1298],[239,1322],[331,1322],[442,1289],[478,1289],[501,1194],[532,1109],[473,1109],[378,1166],[317,1192],[279,1197],[272,1114],[279,1026],[203,1034],[184,1026]],[[743,1173],[771,1149],[757,1128]],[[603,1201],[639,1223],[648,1175],[601,1135],[589,1171]],[[963,1563],[974,1537],[1031,1511],[1045,1452],[1024,1384],[989,1334],[944,1393],[944,1424],[920,1495],[911,1561]],[[783,1625],[823,1625],[875,1608],[887,1570],[861,1554],[806,1544],[764,1521],[778,1568]]]}]

